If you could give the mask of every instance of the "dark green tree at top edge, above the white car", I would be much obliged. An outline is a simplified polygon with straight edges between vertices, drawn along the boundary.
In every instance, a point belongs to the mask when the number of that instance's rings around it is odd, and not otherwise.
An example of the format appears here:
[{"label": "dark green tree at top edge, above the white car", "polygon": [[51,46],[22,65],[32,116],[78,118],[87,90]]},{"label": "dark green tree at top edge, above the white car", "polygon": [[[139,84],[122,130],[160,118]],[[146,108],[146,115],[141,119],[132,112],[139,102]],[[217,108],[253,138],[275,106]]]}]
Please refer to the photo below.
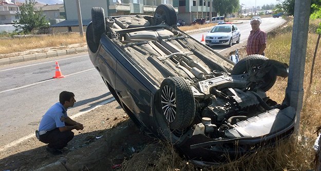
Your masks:
[{"label": "dark green tree at top edge, above the white car", "polygon": [[213,0],[213,6],[216,12],[224,16],[228,13],[237,12],[239,4],[239,0]]}]

